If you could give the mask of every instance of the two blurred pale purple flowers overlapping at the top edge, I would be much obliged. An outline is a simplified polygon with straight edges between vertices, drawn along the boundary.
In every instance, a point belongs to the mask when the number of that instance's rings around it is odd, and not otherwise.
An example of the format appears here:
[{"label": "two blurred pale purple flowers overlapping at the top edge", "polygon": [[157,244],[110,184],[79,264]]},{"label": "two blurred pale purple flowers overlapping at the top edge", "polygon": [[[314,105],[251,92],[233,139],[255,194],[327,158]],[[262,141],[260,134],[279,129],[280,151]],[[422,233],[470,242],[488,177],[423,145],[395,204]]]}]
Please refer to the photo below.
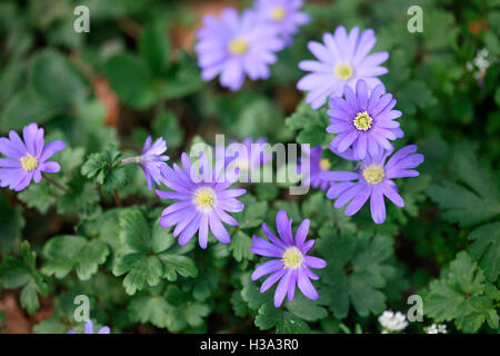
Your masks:
[{"label": "two blurred pale purple flowers overlapping at the top edge", "polygon": [[291,42],[299,26],[309,22],[301,7],[301,0],[263,0],[241,14],[227,8],[220,18],[206,16],[194,46],[201,78],[210,81],[220,75],[220,85],[232,91],[241,88],[247,76],[253,81],[268,79],[276,52]]}]

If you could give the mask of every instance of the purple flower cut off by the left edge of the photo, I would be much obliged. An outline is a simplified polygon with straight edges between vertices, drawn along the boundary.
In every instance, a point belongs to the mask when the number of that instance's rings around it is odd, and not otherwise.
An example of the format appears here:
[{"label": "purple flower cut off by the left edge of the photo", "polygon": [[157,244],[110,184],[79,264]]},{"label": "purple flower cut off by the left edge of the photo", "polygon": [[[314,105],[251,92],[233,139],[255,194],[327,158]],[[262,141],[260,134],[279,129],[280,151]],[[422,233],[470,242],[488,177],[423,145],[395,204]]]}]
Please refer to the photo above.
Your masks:
[{"label": "purple flower cut off by the left edge of the photo", "polygon": [[9,138],[0,138],[0,186],[21,191],[31,180],[40,182],[41,174],[57,174],[61,166],[47,161],[53,154],[64,149],[64,141],[52,141],[44,145],[43,129],[37,123],[30,123],[23,129],[24,141],[16,131],[9,132]]}]

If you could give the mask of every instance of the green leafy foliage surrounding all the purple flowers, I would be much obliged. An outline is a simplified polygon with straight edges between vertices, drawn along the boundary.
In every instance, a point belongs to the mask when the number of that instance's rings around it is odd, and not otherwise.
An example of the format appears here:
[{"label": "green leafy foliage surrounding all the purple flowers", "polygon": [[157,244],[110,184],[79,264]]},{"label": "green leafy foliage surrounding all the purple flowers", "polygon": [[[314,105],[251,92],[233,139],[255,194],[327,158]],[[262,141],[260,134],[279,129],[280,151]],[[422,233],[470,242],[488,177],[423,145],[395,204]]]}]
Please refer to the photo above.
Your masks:
[{"label": "green leafy foliage surrounding all the purple flowers", "polygon": [[[0,131],[36,121],[46,141],[67,140],[54,179],[71,189],[47,181],[18,195],[2,189],[0,294],[14,293],[30,315],[53,307],[34,333],[81,329],[73,319],[80,294],[112,333],[379,333],[377,316],[406,313],[412,294],[423,296],[424,322],[410,323],[409,333],[432,323],[498,333],[500,1],[308,1],[312,24],[279,55],[271,78],[236,93],[202,82],[192,44],[179,47],[202,8],[217,3],[0,3]],[[77,4],[90,9],[90,33],[72,30]],[[422,33],[407,31],[412,4],[423,9]],[[403,112],[398,146],[416,142],[426,155],[421,176],[399,181],[406,207],[388,207],[376,226],[368,209],[348,218],[322,191],[291,197],[286,187],[254,185],[229,246],[213,237],[207,250],[178,246],[158,225],[164,201],[138,167],[119,160],[140,151],[149,134],[167,140],[171,161],[193,141],[212,144],[216,132],[327,147],[328,117],[301,102],[294,86],[303,76],[298,62],[311,58],[307,42],[338,24],[373,28],[376,50],[390,52],[381,79]],[[467,62],[482,48],[491,66],[479,82]],[[117,107],[96,90],[102,78],[119,100],[116,125]],[[314,283],[319,300],[298,293],[276,309],[273,288],[261,295],[250,279],[259,261],[249,247],[280,209],[294,222],[311,219],[314,255],[328,267]]]}]

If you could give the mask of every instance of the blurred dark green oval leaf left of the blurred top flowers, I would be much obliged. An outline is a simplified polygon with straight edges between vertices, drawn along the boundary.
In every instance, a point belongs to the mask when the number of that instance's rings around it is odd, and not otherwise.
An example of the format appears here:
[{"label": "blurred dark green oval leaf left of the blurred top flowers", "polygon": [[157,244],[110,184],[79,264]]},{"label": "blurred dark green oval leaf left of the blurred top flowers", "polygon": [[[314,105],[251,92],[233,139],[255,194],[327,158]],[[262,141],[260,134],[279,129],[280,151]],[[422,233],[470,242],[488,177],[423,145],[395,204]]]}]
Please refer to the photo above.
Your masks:
[{"label": "blurred dark green oval leaf left of the blurred top flowers", "polygon": [[136,57],[122,53],[110,58],[104,65],[104,73],[124,103],[136,109],[147,109],[157,100],[153,78]]}]

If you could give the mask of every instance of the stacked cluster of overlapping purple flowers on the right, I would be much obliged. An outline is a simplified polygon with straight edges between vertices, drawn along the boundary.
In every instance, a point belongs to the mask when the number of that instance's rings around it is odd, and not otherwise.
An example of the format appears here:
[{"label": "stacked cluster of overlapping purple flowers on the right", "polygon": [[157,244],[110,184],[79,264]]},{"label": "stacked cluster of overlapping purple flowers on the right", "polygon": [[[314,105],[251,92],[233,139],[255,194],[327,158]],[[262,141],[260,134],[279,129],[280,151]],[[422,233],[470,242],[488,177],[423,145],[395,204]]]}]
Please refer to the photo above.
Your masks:
[{"label": "stacked cluster of overlapping purple flowers on the right", "polygon": [[386,220],[384,197],[398,207],[404,206],[393,179],[418,176],[412,168],[423,161],[423,155],[414,154],[417,146],[410,145],[386,164],[394,149],[390,141],[402,138],[404,132],[396,120],[402,115],[393,110],[396,99],[386,93],[383,83],[377,78],[388,72],[380,65],[389,55],[368,55],[376,43],[373,30],[360,33],[354,27],[348,33],[339,26],[333,34],[324,33],[323,41],[324,44],[309,42],[309,49],[319,61],[299,63],[299,68],[311,73],[297,87],[309,91],[306,101],[313,109],[319,109],[330,98],[327,113],[331,125],[327,132],[336,137],[329,148],[343,159],[360,162],[356,171],[329,171],[330,167],[318,169],[321,147],[316,147],[310,152],[311,174],[303,179],[312,187],[328,187],[327,197],[336,200],[336,208],[349,202],[347,216],[358,212],[370,198],[373,221],[381,224]]}]

